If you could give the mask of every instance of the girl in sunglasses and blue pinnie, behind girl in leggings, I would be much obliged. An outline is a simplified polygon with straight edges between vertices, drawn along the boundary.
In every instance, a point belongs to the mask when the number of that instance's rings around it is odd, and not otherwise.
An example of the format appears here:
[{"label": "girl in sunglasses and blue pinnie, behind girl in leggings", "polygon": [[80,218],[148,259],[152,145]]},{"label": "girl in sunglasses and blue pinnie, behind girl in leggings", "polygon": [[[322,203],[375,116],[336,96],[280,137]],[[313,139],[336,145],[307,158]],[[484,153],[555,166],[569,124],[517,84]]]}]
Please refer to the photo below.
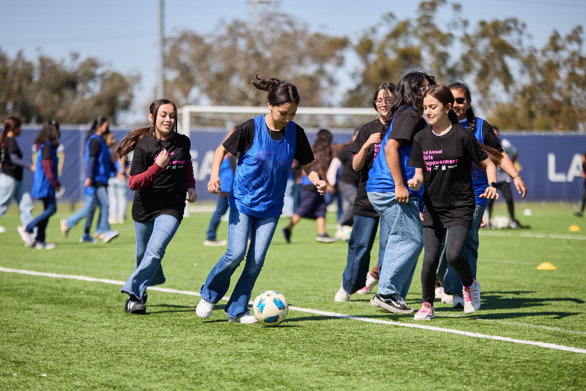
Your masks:
[{"label": "girl in sunglasses and blue pinnie, behind girl in leggings", "polygon": [[[482,118],[478,118],[474,114],[471,106],[472,98],[468,86],[466,86],[464,83],[456,82],[450,84],[448,88],[454,96],[453,110],[454,113],[456,113],[458,116],[459,123],[471,131],[478,142],[484,145],[488,145],[488,147],[494,148],[500,152],[502,155],[502,160],[500,161],[499,167],[502,168],[503,171],[505,171],[506,174],[508,174],[511,178],[513,178],[515,188],[521,195],[521,198],[523,198],[527,193],[527,187],[525,186],[523,179],[521,179],[521,176],[515,168],[515,165],[513,165],[513,162],[509,158],[509,155],[507,155],[507,153],[501,147],[499,139],[496,137],[495,132],[493,131],[488,121],[485,121]],[[472,268],[472,275],[474,278],[476,278],[476,263],[478,261],[478,230],[481,227],[482,216],[484,215],[486,205],[488,204],[488,200],[486,198],[481,198],[480,195],[484,193],[488,183],[489,181],[486,178],[486,172],[484,172],[482,169],[475,168],[473,175],[473,186],[476,199],[476,208],[474,210],[472,226],[468,234],[468,239],[466,240],[466,245],[464,247],[464,257],[470,263]],[[496,182],[495,186],[498,188],[498,184]],[[454,308],[464,308],[464,301],[460,288],[461,284],[458,275],[455,273],[454,268],[449,266],[447,263],[444,253],[442,253],[440,258],[440,266],[438,267],[438,280],[440,280],[442,287],[444,287],[444,297],[442,297],[442,301],[451,301]]]}]

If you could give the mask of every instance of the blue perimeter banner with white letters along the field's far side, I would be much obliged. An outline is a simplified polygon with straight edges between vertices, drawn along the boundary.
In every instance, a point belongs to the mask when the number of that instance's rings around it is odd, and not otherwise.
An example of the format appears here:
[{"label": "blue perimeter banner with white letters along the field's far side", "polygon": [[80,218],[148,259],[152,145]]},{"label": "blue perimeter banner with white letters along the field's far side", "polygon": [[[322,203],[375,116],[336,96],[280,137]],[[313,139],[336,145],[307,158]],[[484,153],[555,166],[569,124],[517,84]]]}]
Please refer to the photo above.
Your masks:
[{"label": "blue perimeter banner with white letters along the field's far side", "polygon": [[[21,136],[16,139],[26,161],[33,161],[33,140],[38,131],[38,128],[23,128]],[[112,131],[116,140],[120,141],[130,130]],[[86,132],[87,130],[62,129],[59,175],[66,192],[59,202],[83,202],[83,153]],[[334,142],[340,144],[345,144],[351,139],[348,132],[332,133]],[[217,196],[207,192],[207,181],[210,178],[214,151],[224,135],[224,130],[192,130],[190,133],[198,201],[216,200]],[[312,142],[315,132],[308,131],[307,135]],[[584,180],[581,178],[580,154],[586,152],[586,135],[503,133],[502,138],[509,140],[519,151],[519,164],[522,168],[520,174],[529,188],[526,200],[581,200]],[[25,183],[29,190],[32,179],[32,172],[25,170]],[[514,194],[515,199],[519,200],[520,196],[516,192]],[[128,198],[132,197],[133,192],[128,189]]]}]

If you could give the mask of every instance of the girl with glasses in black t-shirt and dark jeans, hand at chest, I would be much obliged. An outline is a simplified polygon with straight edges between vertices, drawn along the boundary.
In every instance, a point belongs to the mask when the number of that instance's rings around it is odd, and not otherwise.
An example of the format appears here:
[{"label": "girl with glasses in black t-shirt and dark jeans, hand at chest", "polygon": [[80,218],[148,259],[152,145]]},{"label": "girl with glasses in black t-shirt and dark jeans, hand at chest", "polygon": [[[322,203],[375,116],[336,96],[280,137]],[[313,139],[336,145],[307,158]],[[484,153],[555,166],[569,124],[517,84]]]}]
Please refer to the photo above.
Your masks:
[{"label": "girl with glasses in black t-shirt and dark jeans, hand at chest", "polygon": [[370,263],[370,250],[374,244],[379,220],[378,263],[380,265],[383,263],[384,248],[387,245],[387,239],[389,239],[390,228],[384,220],[380,219],[379,213],[370,203],[366,194],[366,182],[374,158],[380,150],[381,134],[386,125],[387,114],[389,114],[389,108],[393,103],[395,90],[396,86],[393,83],[380,84],[374,90],[372,104],[380,117],[362,125],[352,148],[350,148],[350,152],[355,154],[352,159],[352,168],[360,172],[360,182],[354,200],[354,223],[350,240],[348,240],[346,268],[342,273],[342,286],[334,296],[334,301],[348,301],[350,294],[359,291],[365,284],[370,283],[372,286],[376,284],[374,281],[368,280],[367,271]]}]

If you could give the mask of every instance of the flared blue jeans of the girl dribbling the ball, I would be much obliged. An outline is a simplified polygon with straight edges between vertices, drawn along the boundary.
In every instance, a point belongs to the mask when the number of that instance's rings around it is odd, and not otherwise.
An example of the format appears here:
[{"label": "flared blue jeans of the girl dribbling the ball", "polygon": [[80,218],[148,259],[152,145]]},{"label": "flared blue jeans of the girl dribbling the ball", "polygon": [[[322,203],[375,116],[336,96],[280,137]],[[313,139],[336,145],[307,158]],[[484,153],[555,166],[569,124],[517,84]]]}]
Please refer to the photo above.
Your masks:
[{"label": "flared blue jeans of the girl dribbling the ball", "polygon": [[[216,304],[228,291],[230,278],[246,255],[246,263],[242,274],[234,287],[234,291],[224,307],[231,318],[241,317],[246,311],[254,283],[264,264],[272,235],[277,229],[278,216],[253,217],[230,208],[228,219],[228,249],[210,271],[206,282],[200,289],[202,299]],[[248,253],[246,246],[250,235]]]}]

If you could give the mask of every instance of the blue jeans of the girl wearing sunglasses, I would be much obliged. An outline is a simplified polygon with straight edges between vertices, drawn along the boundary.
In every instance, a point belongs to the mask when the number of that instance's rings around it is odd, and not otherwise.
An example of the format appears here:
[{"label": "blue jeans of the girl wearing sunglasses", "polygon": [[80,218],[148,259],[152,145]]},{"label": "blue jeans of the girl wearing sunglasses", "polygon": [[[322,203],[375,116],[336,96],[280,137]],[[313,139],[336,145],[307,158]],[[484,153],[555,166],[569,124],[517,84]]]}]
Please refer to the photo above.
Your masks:
[{"label": "blue jeans of the girl wearing sunglasses", "polygon": [[[472,217],[472,226],[470,227],[470,233],[466,238],[466,244],[464,246],[464,258],[470,264],[470,268],[472,270],[472,277],[476,279],[476,264],[478,263],[478,245],[480,244],[478,239],[478,230],[480,229],[480,225],[482,223],[482,215],[484,215],[484,210],[486,206],[476,205],[474,208],[474,216]],[[454,268],[449,266],[448,261],[445,258],[445,243],[441,244],[442,253],[440,256],[440,264],[438,266],[438,280],[442,287],[444,287],[444,292],[453,295],[453,294],[462,294],[462,281],[460,281],[460,277],[456,274]]]}]

